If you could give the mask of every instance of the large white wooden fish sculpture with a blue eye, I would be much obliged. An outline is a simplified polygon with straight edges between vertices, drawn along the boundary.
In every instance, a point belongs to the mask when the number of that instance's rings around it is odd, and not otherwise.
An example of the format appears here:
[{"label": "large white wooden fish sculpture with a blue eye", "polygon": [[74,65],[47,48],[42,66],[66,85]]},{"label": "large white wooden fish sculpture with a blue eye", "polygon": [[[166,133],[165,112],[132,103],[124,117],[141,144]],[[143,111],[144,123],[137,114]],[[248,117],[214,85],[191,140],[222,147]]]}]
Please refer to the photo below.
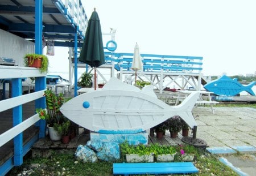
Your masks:
[{"label": "large white wooden fish sculpture with a blue eye", "polygon": [[199,95],[195,91],[180,105],[169,106],[158,100],[151,85],[141,90],[113,77],[104,88],[72,98],[60,111],[78,125],[104,134],[142,132],[174,115],[193,128],[197,123],[191,111]]}]

